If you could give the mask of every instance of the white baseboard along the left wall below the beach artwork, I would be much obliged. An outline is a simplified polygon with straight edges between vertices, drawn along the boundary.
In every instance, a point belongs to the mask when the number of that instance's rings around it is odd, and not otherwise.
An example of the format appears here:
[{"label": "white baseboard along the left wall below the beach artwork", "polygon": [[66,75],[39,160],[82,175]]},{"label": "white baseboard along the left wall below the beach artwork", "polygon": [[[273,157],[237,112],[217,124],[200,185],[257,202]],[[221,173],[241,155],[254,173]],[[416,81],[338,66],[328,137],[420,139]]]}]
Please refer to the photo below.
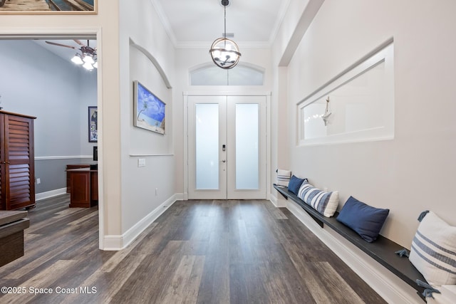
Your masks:
[{"label": "white baseboard along the left wall below the beach artwork", "polygon": [[158,216],[162,215],[162,213],[172,206],[175,201],[179,201],[179,197],[180,194],[174,194],[171,196],[169,199],[160,204],[160,206],[150,212],[150,214],[147,214],[147,216],[138,221],[135,226],[128,229],[128,231],[125,231],[125,234],[104,236],[104,248],[102,249],[105,251],[118,251],[128,246],[142,233],[142,231],[152,224]]}]

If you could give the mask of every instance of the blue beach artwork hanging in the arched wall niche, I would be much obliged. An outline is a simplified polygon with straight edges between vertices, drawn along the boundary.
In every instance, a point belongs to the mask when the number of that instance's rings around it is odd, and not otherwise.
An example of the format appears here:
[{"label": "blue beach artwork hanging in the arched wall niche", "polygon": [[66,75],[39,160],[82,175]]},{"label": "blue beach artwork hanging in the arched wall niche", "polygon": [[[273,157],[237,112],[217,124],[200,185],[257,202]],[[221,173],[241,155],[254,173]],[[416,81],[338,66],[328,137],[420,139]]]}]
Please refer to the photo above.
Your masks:
[{"label": "blue beach artwork hanging in the arched wall niche", "polygon": [[135,117],[133,125],[165,134],[165,103],[138,80],[133,82]]}]

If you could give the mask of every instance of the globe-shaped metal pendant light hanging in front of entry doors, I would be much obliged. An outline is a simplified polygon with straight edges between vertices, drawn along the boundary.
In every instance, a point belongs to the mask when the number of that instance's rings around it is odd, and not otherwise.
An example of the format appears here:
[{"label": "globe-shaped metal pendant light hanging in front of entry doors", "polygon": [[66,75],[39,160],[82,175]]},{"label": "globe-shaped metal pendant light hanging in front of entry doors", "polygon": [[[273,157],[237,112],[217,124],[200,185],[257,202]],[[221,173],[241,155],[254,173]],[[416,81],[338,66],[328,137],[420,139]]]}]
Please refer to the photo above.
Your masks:
[{"label": "globe-shaped metal pendant light hanging in front of entry doors", "polygon": [[219,66],[219,68],[229,69],[234,68],[239,62],[241,53],[237,44],[227,38],[227,5],[229,0],[222,0],[224,6],[224,33],[222,38],[218,38],[209,50],[212,61]]}]

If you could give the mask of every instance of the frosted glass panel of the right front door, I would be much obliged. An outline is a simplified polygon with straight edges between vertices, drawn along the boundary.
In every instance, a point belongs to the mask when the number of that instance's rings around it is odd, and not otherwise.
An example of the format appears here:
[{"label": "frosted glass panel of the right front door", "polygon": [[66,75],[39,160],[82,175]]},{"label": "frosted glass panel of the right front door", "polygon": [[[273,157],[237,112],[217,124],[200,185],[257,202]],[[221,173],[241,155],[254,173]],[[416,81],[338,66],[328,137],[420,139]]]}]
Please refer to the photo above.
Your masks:
[{"label": "frosted glass panel of the right front door", "polygon": [[236,189],[259,187],[258,104],[236,105]]}]

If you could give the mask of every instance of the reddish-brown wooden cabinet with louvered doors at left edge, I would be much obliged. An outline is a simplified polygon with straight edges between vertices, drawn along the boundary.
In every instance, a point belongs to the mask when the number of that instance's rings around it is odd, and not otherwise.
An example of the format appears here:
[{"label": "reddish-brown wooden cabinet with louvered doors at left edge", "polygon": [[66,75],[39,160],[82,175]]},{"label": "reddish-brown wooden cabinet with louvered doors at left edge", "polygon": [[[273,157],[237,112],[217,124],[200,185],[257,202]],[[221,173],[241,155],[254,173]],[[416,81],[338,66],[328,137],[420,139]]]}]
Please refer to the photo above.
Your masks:
[{"label": "reddish-brown wooden cabinet with louvered doors at left edge", "polygon": [[0,210],[35,207],[34,119],[0,111]]}]

